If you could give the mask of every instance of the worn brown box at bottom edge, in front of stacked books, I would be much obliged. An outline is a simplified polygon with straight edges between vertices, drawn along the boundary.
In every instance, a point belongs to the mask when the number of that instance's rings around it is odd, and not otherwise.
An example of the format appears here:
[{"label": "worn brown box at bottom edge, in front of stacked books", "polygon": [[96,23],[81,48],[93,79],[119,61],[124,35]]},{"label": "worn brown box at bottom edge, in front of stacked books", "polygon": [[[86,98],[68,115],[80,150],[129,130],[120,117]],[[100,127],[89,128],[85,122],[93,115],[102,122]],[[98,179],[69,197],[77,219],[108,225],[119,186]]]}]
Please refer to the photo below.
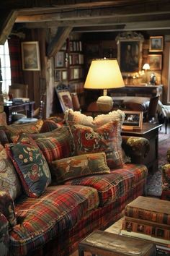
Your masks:
[{"label": "worn brown box at bottom edge, in front of stacked books", "polygon": [[153,256],[156,247],[144,239],[135,239],[97,230],[79,243],[79,256],[84,256],[84,251],[91,252],[93,256]]}]

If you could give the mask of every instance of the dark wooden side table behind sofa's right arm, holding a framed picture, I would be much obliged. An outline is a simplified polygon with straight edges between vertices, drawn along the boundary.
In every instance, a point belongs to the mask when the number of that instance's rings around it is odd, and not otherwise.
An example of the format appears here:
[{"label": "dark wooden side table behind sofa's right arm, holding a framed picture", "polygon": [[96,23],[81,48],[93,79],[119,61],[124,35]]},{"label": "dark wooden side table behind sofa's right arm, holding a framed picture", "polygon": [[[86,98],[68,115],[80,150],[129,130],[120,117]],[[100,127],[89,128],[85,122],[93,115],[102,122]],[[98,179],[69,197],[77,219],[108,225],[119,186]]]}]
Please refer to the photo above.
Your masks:
[{"label": "dark wooden side table behind sofa's right arm, holding a framed picture", "polygon": [[151,124],[143,123],[142,129],[136,130],[125,130],[123,129],[121,135],[134,136],[134,137],[144,137],[150,142],[150,150],[148,155],[143,161],[149,171],[158,170],[158,129],[162,124]]}]

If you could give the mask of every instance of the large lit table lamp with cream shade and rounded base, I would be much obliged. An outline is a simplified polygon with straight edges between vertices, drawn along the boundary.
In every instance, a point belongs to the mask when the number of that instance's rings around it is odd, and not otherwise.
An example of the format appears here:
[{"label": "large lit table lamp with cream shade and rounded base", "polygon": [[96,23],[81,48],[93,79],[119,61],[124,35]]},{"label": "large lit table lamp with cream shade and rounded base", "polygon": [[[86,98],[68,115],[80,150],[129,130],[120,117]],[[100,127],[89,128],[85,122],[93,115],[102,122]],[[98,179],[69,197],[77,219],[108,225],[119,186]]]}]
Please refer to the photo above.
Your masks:
[{"label": "large lit table lamp with cream shade and rounded base", "polygon": [[97,99],[99,111],[112,110],[113,100],[107,95],[107,89],[124,87],[117,59],[94,59],[84,84],[85,89],[103,89],[103,96]]}]

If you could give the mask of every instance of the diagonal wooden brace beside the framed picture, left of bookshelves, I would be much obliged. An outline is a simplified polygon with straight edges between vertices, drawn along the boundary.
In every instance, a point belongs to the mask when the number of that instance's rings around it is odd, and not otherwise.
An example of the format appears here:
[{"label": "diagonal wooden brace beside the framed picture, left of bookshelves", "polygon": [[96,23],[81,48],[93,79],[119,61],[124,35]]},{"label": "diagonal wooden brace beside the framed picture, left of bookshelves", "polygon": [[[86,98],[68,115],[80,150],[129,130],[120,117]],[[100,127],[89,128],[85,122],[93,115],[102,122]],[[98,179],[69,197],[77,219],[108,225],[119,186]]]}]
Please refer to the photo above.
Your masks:
[{"label": "diagonal wooden brace beside the framed picture, left of bookshelves", "polygon": [[58,27],[54,38],[48,46],[48,57],[52,57],[57,54],[57,52],[63,46],[63,43],[66,41],[66,38],[68,38],[68,35],[71,33],[71,30],[72,27]]}]

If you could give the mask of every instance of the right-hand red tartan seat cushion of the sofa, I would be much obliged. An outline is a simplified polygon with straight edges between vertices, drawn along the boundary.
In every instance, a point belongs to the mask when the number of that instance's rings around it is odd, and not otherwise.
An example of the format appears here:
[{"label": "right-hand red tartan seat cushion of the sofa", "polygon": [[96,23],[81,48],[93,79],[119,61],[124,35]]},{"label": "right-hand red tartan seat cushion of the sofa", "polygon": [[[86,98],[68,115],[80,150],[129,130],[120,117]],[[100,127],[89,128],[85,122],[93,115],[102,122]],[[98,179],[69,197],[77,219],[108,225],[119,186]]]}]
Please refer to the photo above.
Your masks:
[{"label": "right-hand red tartan seat cushion of the sofa", "polygon": [[146,166],[126,164],[110,174],[81,177],[65,184],[94,187],[99,193],[99,205],[103,206],[123,197],[140,180],[146,179],[147,174]]}]

